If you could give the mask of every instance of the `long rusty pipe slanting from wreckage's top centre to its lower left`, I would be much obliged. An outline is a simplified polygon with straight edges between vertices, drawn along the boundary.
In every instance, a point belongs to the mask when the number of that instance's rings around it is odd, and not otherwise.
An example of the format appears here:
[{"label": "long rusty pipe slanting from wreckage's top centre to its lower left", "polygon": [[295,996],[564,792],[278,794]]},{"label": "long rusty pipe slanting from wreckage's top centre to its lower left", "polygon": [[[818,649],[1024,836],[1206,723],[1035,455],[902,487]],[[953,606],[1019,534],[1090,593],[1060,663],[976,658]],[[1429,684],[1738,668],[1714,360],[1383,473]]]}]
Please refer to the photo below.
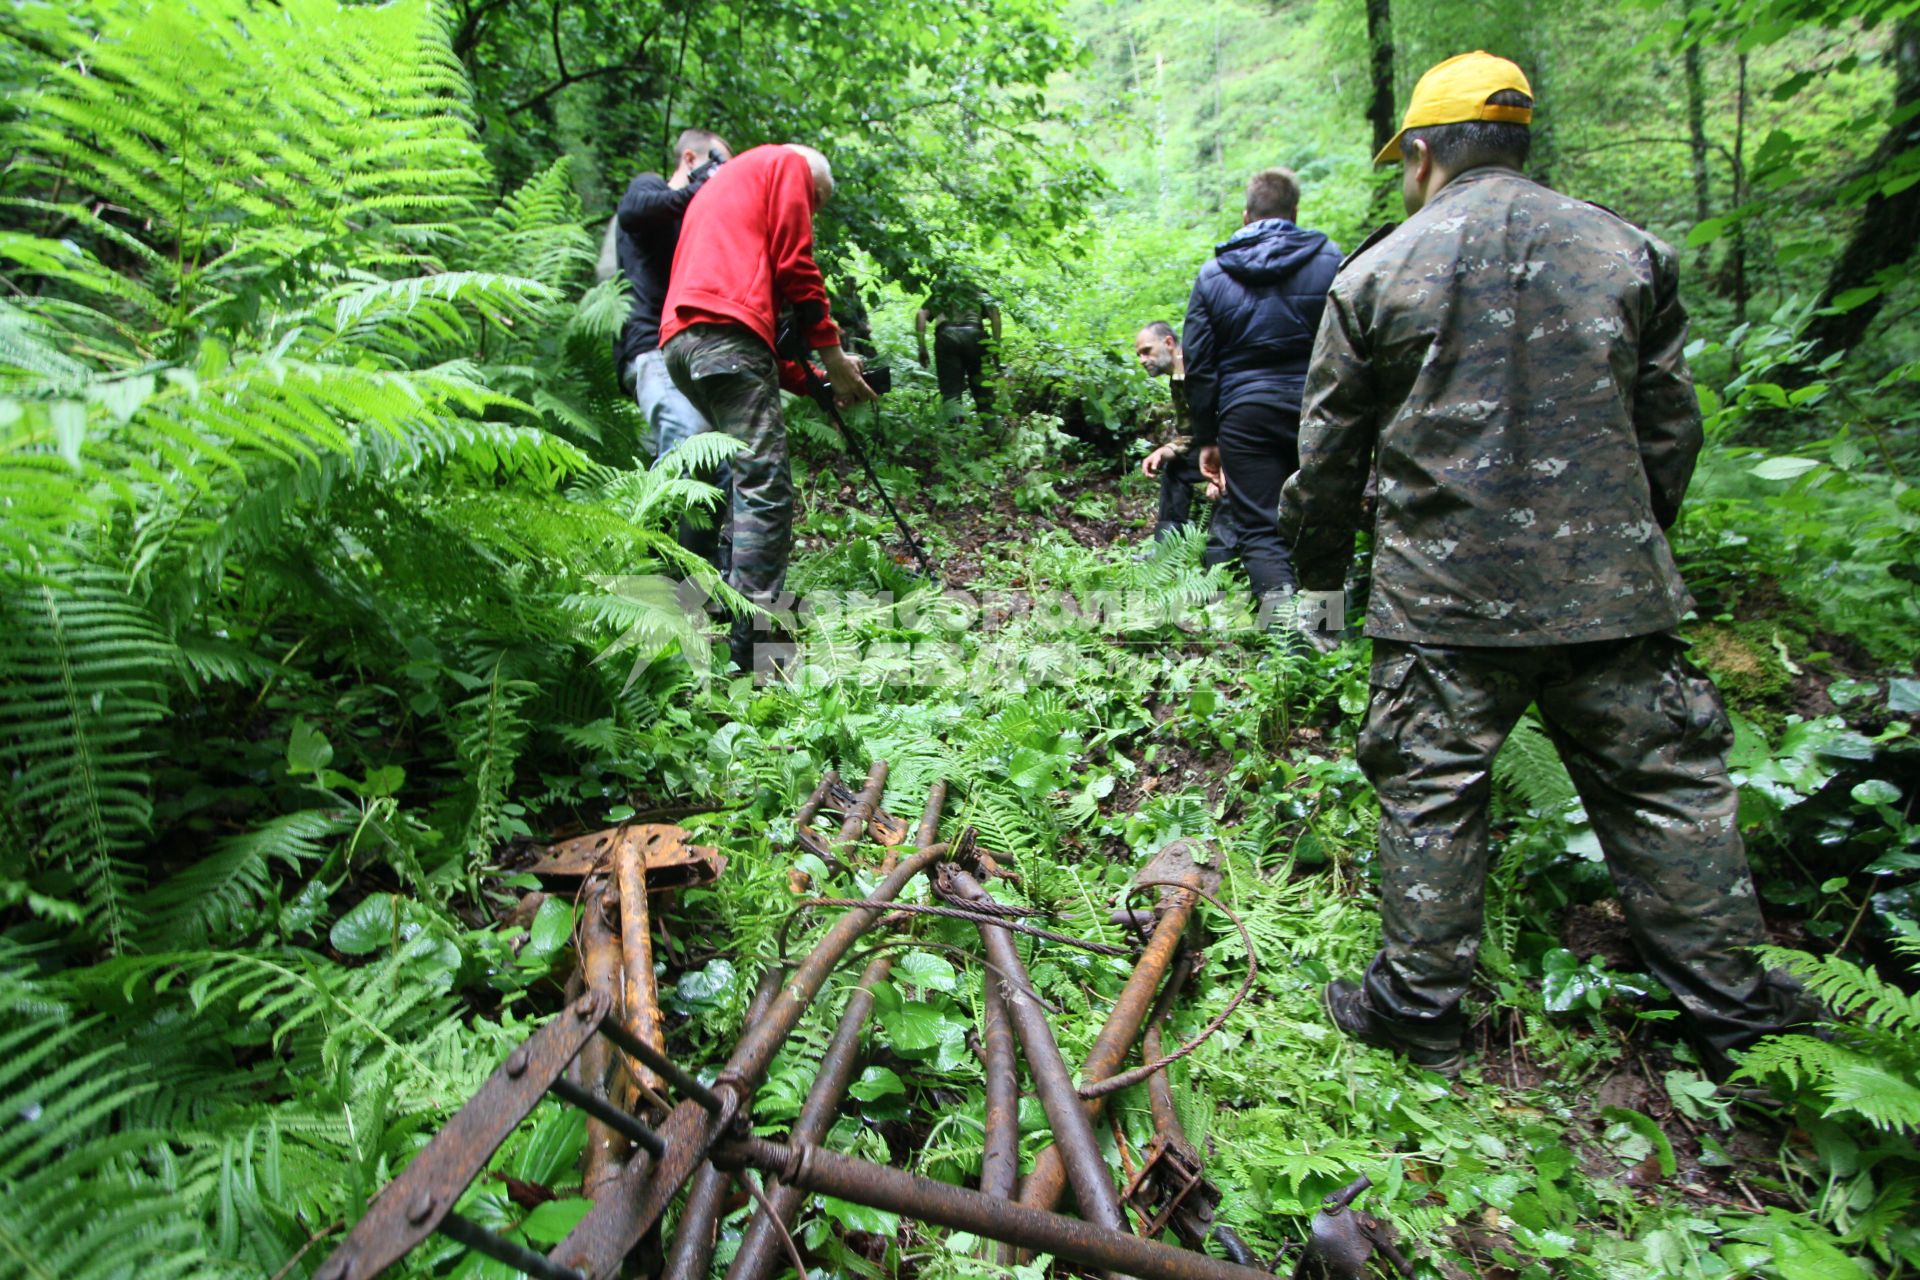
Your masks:
[{"label": "long rusty pipe slanting from wreckage's top centre to its lower left", "polygon": [[[945,852],[943,844],[918,850],[874,889],[872,898],[899,896],[908,881],[939,862]],[[883,912],[883,908],[862,908],[833,921],[812,954],[774,996],[766,1015],[749,1025],[747,1034],[733,1046],[733,1055],[714,1082],[714,1090],[728,1100],[726,1111],[710,1117],[697,1102],[682,1102],[674,1107],[660,1125],[666,1155],[651,1169],[630,1171],[609,1184],[607,1194],[593,1197],[593,1209],[547,1257],[561,1267],[584,1270],[591,1280],[611,1280],[618,1272],[626,1251],[660,1219],[680,1188],[699,1169],[714,1138],[732,1125],[737,1109],[766,1077],[774,1054],[793,1032],[806,1006],[820,994],[847,948],[872,929]]]}]

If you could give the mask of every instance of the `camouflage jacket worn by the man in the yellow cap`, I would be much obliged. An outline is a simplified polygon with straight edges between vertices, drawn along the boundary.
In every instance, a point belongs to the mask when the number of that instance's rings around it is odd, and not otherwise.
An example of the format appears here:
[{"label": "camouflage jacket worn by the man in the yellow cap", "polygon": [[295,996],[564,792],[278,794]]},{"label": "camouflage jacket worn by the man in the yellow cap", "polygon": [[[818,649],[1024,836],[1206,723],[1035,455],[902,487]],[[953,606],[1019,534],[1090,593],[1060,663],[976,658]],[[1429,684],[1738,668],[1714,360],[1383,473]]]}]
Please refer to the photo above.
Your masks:
[{"label": "camouflage jacket worn by the man in the yellow cap", "polygon": [[1342,583],[1379,468],[1367,635],[1567,645],[1692,606],[1667,545],[1701,447],[1674,251],[1471,169],[1334,280],[1281,530]]}]

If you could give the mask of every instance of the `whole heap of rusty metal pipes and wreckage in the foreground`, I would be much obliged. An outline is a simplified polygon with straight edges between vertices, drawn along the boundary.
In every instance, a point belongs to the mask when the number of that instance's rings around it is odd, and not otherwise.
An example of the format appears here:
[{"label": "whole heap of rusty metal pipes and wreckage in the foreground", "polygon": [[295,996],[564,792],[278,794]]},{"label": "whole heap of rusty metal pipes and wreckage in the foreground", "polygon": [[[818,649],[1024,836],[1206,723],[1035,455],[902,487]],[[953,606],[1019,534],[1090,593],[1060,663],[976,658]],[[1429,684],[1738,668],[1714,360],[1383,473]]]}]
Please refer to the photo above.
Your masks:
[{"label": "whole heap of rusty metal pipes and wreckage in the foreground", "polygon": [[[622,1274],[693,1280],[710,1270],[718,1222],[735,1180],[758,1209],[728,1280],[766,1280],[783,1263],[806,1274],[789,1228],[808,1194],[972,1232],[989,1242],[985,1257],[1002,1265],[1031,1253],[1052,1253],[1083,1268],[1142,1280],[1269,1276],[1246,1244],[1213,1219],[1221,1192],[1206,1180],[1198,1150],[1181,1132],[1165,1075],[1167,1063],[1198,1048],[1252,986],[1252,938],[1231,912],[1229,919],[1248,944],[1246,981],[1200,1036],[1162,1055],[1162,1029],[1181,986],[1198,967],[1198,954],[1183,944],[1187,925],[1198,902],[1221,906],[1213,898],[1217,879],[1194,860],[1190,842],[1167,844],[1135,877],[1133,892],[1160,890],[1156,910],[1116,912],[1117,923],[1146,940],[1081,1063],[1081,1084],[1075,1086],[1046,1021],[1046,1004],[1027,981],[1014,935],[1039,935],[1108,954],[1119,948],[1039,929],[1025,919],[1035,912],[996,902],[981,881],[1006,873],[975,848],[972,829],[952,844],[935,839],[947,783],[933,785],[912,833],[914,842],[906,848],[908,825],[879,806],[885,783],[883,760],[874,762],[858,793],[828,771],[795,814],[797,842],[829,867],[851,867],[866,839],[879,844],[881,879],[868,898],[808,898],[801,904],[801,910],[841,906],[845,912],[804,960],[789,963],[781,956],[768,967],[745,1032],[710,1084],[666,1055],[647,898],[707,883],[720,875],[726,860],[710,848],[687,844],[678,827],[662,825],[622,825],[553,846],[532,869],[545,885],[572,885],[578,892],[580,965],[568,1007],[507,1055],[374,1197],[313,1278],[372,1280],[440,1234],[540,1280],[614,1280]],[[837,839],[828,841],[812,827],[822,810],[841,816]],[[948,906],[897,902],[900,890],[924,873]],[[983,960],[977,958],[987,969],[985,1025],[977,1038],[987,1084],[979,1190],[851,1159],[822,1146],[860,1069],[874,990],[887,981],[900,944],[883,944],[870,954],[785,1142],[756,1138],[749,1125],[755,1088],[852,944],[879,925],[899,927],[922,913],[975,923],[985,952]],[[906,940],[904,946],[924,942]],[[1123,1073],[1121,1065],[1140,1040],[1142,1027],[1144,1061]],[[1052,1146],[1037,1155],[1023,1180],[1018,1169],[1016,1044],[1052,1130]],[[1148,1086],[1156,1138],[1137,1171],[1125,1144],[1119,1144],[1131,1176],[1121,1194],[1100,1153],[1094,1123],[1110,1094],[1140,1080]],[[463,1217],[457,1203],[547,1094],[586,1111],[582,1194],[593,1207],[551,1253],[536,1253]],[[760,1174],[766,1186],[755,1184],[753,1174]],[[1079,1205],[1077,1219],[1056,1211],[1068,1188]],[[1369,1274],[1375,1253],[1398,1274],[1413,1274],[1394,1249],[1390,1228],[1352,1209],[1365,1188],[1361,1176],[1329,1197],[1327,1209],[1313,1219],[1311,1240],[1292,1272],[1296,1278],[1357,1280]],[[659,1224],[682,1190],[685,1201],[678,1230],[660,1253]],[[1139,1234],[1129,1230],[1127,1207],[1137,1215]],[[1162,1244],[1160,1236],[1169,1230],[1187,1247]],[[1208,1240],[1227,1261],[1202,1251]]]}]

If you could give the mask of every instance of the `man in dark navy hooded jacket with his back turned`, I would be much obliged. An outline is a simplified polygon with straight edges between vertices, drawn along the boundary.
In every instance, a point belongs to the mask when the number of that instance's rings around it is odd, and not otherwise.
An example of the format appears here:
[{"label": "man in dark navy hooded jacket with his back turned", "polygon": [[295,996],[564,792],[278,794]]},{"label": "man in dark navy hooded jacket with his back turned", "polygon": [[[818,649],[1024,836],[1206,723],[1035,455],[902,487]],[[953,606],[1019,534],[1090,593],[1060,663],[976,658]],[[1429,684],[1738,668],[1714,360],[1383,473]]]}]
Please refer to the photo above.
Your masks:
[{"label": "man in dark navy hooded jacket with his back turned", "polygon": [[1340,249],[1294,226],[1300,180],[1265,169],[1246,184],[1244,226],[1200,269],[1187,303],[1187,409],[1200,470],[1225,472],[1240,562],[1271,612],[1294,589],[1281,539],[1281,486],[1300,466],[1300,391]]}]

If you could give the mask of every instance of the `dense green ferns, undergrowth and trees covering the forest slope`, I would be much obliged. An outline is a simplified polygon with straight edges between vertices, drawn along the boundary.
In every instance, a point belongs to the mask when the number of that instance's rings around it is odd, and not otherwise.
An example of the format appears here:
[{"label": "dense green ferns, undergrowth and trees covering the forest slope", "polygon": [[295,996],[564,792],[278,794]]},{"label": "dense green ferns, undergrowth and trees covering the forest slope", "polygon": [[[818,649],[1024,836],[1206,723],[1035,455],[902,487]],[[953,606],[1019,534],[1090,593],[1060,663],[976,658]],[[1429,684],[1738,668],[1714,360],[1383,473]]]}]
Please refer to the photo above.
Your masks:
[{"label": "dense green ferns, undergrowth and trees covering the forest slope", "polygon": [[[1244,173],[1298,167],[1304,221],[1348,244],[1382,207],[1357,2],[19,4],[0,13],[8,1274],[311,1274],[559,1000],[572,913],[509,915],[518,852],[636,808],[695,810],[733,860],[678,900],[662,952],[676,1054],[712,1061],[791,912],[787,816],[820,770],[876,756],[899,814],[950,779],[948,829],[975,825],[1020,869],[1006,894],[1075,933],[1119,940],[1114,898],[1167,839],[1217,850],[1261,973],[1173,1079],[1225,1219],[1269,1257],[1369,1173],[1427,1274],[1920,1268],[1912,286],[1828,292],[1868,188],[1905,180],[1868,161],[1903,123],[1887,50],[1910,17],[1394,17],[1402,100],[1459,44],[1523,58],[1548,175],[1697,249],[1713,447],[1678,533],[1692,637],[1740,712],[1780,960],[1845,1019],[1749,1057],[1786,1117],[1672,1044],[1532,723],[1498,768],[1469,1082],[1338,1040],[1315,990],[1375,931],[1365,651],[1254,635],[1192,541],[1133,555],[1148,486],[1102,445],[1137,455],[1158,390],[1125,342],[1177,319]],[[1695,36],[1705,207],[1684,163]],[[793,585],[835,606],[806,629],[814,666],[758,691],[705,677],[668,593],[722,595],[670,530],[712,503],[689,474],[724,445],[643,466],[607,359],[624,301],[588,288],[609,201],[687,123],[833,154],[822,240],[895,365],[933,278],[972,273],[1008,313],[1004,424],[947,420],[910,368],[862,420],[972,595],[895,562],[797,411]],[[1880,307],[1859,347],[1811,349],[1822,299]],[[1204,936],[1175,1034],[1244,973],[1223,917]],[[1033,954],[1069,1057],[1123,977]],[[977,1169],[977,998],[952,952],[902,958],[835,1146]],[[764,1125],[797,1113],[829,1017],[776,1063]],[[1139,1151],[1144,1100],[1117,1115]],[[1031,1157],[1031,1102],[1023,1130]],[[582,1142],[541,1109],[495,1169],[557,1199],[526,1209],[495,1178],[463,1209],[557,1240]],[[824,1274],[995,1270],[833,1201],[803,1242]],[[409,1274],[499,1272],[442,1244]]]}]

